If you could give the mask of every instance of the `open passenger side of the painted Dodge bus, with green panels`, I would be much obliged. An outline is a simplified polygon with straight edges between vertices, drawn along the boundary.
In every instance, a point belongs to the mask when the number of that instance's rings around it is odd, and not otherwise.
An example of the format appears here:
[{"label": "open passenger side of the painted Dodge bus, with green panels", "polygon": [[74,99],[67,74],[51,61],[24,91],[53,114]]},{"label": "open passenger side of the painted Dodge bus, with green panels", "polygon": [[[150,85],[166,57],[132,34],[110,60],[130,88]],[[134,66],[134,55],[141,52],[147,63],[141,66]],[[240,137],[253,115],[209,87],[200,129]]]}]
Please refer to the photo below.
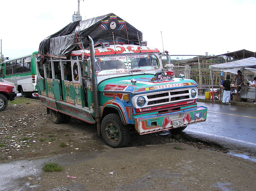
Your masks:
[{"label": "open passenger side of the painted Dodge bus, with green panels", "polygon": [[38,93],[42,104],[50,109],[54,123],[68,122],[73,116],[88,123],[95,123],[92,81],[81,76],[88,61],[81,55],[66,59],[49,57],[44,64],[36,63]]}]

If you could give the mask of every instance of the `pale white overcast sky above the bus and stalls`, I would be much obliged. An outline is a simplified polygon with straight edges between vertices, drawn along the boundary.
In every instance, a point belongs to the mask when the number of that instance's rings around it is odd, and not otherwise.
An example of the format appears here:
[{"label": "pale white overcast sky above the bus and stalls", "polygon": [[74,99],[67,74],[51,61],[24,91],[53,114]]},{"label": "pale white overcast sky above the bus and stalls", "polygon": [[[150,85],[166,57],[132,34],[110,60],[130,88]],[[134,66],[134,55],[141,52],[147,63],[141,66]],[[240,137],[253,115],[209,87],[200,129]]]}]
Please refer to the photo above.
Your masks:
[{"label": "pale white overcast sky above the bus and stalls", "polygon": [[[37,51],[40,42],[72,21],[77,0],[1,1],[4,57]],[[84,0],[82,20],[114,13],[143,33],[149,47],[170,55],[256,51],[254,0]],[[184,56],[177,56],[180,59]]]}]

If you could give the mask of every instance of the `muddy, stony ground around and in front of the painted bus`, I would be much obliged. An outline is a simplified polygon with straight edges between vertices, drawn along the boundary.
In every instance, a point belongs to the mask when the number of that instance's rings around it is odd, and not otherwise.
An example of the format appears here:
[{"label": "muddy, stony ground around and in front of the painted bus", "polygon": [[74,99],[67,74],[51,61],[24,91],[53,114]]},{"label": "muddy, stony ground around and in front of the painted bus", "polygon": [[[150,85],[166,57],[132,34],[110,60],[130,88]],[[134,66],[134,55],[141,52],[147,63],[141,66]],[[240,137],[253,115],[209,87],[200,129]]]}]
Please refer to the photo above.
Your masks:
[{"label": "muddy, stony ground around and in front of the painted bus", "polygon": [[[255,190],[255,162],[224,154],[225,149],[169,131],[133,133],[127,148],[111,149],[96,125],[73,118],[54,124],[38,100],[14,101],[0,113],[0,172],[6,172],[0,190]],[[50,161],[64,170],[42,172]]]}]

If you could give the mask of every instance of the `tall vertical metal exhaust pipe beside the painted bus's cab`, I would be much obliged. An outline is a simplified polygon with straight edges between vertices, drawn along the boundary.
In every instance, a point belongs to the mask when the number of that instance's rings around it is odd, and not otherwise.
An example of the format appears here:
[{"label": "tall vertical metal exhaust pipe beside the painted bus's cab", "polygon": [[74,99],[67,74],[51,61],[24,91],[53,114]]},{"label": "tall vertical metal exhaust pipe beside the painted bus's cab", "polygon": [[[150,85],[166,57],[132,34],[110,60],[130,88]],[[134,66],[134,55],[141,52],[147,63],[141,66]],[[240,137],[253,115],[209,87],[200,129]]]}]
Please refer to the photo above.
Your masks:
[{"label": "tall vertical metal exhaust pipe beside the painted bus's cab", "polygon": [[[94,103],[94,117],[96,122],[98,122],[97,127],[100,125],[100,107],[99,107],[99,100],[98,100],[98,82],[96,76],[96,63],[95,63],[95,56],[94,56],[94,42],[90,36],[86,36],[87,40],[90,43],[90,53],[91,53],[91,63],[92,63],[92,92],[93,92],[93,103]],[[99,128],[99,127],[98,127]],[[98,129],[99,131],[99,129]]]}]

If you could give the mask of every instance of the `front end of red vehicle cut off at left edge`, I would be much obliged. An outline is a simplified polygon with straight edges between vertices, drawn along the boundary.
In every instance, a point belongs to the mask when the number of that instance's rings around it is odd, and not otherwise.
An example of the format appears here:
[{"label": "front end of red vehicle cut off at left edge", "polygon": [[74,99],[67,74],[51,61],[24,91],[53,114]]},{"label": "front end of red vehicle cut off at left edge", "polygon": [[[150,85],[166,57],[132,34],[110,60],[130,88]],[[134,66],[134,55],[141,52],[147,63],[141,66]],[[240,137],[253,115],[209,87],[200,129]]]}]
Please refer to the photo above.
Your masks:
[{"label": "front end of red vehicle cut off at left edge", "polygon": [[0,82],[0,111],[4,111],[8,105],[8,100],[14,100],[15,96],[17,93],[13,85]]}]

